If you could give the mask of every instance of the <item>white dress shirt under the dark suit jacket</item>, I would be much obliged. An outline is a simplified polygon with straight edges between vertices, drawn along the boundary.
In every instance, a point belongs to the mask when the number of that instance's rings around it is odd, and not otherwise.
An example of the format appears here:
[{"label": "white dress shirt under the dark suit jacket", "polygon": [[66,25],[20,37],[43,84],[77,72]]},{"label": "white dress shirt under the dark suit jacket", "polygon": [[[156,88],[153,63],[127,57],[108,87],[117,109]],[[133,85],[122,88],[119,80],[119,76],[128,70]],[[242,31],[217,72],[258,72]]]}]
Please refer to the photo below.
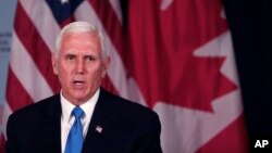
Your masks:
[{"label": "white dress shirt under the dark suit jacket", "polygon": [[[85,138],[87,135],[87,130],[89,127],[90,118],[92,116],[98,97],[100,93],[100,89],[84,104],[79,105],[81,109],[84,111],[85,116],[82,118],[83,124],[83,137]],[[67,136],[70,129],[75,120],[75,117],[71,115],[73,109],[75,107],[74,104],[69,102],[62,94],[61,91],[61,109],[62,109],[62,116],[61,116],[61,150],[64,153]]]}]

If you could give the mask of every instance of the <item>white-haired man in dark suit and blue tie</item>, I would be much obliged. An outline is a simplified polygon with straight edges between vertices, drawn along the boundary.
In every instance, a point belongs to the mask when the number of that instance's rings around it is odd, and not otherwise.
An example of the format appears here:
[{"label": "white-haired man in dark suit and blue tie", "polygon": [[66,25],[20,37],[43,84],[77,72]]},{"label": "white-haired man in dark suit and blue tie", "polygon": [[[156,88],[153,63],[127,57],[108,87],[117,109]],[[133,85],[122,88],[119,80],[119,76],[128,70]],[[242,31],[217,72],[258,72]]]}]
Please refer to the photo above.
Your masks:
[{"label": "white-haired man in dark suit and blue tie", "polygon": [[66,25],[52,54],[62,89],[9,117],[7,153],[162,152],[158,115],[100,88],[109,64],[96,27]]}]

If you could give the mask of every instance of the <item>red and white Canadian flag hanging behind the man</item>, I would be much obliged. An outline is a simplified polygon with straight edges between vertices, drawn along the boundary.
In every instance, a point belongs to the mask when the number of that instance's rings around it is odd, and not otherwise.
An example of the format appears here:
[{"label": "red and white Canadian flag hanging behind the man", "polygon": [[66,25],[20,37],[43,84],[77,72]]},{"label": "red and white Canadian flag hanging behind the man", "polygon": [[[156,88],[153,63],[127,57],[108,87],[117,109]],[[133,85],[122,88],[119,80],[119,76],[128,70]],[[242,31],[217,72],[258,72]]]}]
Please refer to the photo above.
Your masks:
[{"label": "red and white Canadian flag hanging behind the man", "polygon": [[126,68],[162,123],[164,153],[247,152],[220,0],[128,2]]}]

